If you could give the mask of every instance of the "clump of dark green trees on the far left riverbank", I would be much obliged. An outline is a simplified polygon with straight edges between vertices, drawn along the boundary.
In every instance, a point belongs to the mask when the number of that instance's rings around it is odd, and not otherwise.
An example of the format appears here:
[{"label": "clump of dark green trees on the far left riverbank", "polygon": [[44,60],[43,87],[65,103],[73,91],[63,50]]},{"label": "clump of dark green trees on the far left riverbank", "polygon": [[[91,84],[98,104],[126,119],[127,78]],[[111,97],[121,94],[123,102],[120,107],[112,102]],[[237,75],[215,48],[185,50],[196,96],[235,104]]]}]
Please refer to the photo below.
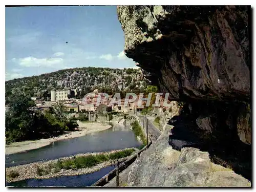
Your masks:
[{"label": "clump of dark green trees on the far left riverbank", "polygon": [[52,110],[42,113],[34,110],[35,102],[29,97],[18,96],[9,102],[10,110],[6,112],[6,143],[49,138],[74,131],[78,124],[67,119],[65,109],[56,104]]}]

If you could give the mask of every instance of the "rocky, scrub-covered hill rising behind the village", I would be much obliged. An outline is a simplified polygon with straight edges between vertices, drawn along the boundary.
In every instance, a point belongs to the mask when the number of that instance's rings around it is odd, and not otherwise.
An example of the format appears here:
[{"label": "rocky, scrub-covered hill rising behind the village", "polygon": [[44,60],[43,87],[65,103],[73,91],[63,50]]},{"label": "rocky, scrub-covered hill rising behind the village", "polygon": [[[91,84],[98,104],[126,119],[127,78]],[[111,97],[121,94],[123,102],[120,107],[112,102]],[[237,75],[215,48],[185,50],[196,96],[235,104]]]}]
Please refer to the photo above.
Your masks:
[{"label": "rocky, scrub-covered hill rising behind the village", "polygon": [[[74,68],[49,74],[13,79],[5,82],[6,99],[12,95],[26,94],[50,98],[51,89],[80,88],[82,93],[93,89],[140,90],[145,80],[140,69]],[[83,95],[83,94],[82,94]]]}]

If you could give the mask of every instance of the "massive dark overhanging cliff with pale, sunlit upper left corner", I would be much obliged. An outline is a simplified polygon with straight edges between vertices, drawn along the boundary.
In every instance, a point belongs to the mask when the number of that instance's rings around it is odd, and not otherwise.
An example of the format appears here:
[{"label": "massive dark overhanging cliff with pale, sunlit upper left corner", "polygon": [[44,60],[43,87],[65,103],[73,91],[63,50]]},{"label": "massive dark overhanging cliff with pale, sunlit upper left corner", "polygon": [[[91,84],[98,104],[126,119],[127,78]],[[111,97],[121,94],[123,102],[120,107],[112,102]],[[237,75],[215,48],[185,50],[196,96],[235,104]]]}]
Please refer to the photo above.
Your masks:
[{"label": "massive dark overhanging cliff with pale, sunlit upper left corner", "polygon": [[173,99],[250,98],[246,6],[118,6],[125,53]]}]

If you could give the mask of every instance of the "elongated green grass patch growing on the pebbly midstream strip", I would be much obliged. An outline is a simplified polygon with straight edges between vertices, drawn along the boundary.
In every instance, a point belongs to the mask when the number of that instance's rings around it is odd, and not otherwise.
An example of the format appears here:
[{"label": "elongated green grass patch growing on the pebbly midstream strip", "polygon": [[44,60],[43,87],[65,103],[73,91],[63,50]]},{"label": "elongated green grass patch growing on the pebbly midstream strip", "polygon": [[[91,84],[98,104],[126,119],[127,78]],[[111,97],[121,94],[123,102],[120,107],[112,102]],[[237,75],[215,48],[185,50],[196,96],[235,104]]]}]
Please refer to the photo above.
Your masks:
[{"label": "elongated green grass patch growing on the pebbly midstream strip", "polygon": [[81,156],[81,157],[73,157],[70,159],[65,160],[58,160],[56,163],[48,164],[45,167],[37,167],[37,175],[47,175],[50,172],[57,173],[61,169],[79,169],[79,168],[88,168],[95,166],[99,163],[102,163],[104,161],[114,160],[114,159],[120,159],[127,156],[132,155],[132,153],[135,151],[134,148],[130,148],[127,150],[114,152],[110,154],[97,154],[97,155],[87,155],[87,156]]}]

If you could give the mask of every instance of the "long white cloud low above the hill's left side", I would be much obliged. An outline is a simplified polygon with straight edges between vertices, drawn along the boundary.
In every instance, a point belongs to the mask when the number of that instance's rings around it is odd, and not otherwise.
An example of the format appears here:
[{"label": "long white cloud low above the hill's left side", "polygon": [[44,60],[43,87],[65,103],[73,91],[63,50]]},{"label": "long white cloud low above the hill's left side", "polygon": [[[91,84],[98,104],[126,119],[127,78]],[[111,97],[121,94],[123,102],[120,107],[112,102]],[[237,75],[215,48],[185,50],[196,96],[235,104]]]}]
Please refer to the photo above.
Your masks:
[{"label": "long white cloud low above the hill's left side", "polygon": [[57,67],[56,65],[62,64],[62,61],[62,58],[35,58],[31,56],[18,59],[19,65],[24,67]]}]

